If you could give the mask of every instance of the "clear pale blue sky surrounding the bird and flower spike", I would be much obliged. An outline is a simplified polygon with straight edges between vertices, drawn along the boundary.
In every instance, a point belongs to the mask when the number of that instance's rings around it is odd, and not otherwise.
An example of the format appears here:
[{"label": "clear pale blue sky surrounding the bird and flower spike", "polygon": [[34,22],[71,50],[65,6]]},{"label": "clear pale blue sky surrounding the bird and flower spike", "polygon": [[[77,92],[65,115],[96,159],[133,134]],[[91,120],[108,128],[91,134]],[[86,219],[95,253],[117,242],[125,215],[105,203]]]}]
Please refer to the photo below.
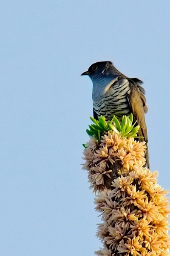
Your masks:
[{"label": "clear pale blue sky surrounding the bird and flower spike", "polygon": [[170,1],[0,3],[0,255],[92,256],[94,195],[81,170],[92,82],[113,61],[144,81],[151,170],[170,189]]}]

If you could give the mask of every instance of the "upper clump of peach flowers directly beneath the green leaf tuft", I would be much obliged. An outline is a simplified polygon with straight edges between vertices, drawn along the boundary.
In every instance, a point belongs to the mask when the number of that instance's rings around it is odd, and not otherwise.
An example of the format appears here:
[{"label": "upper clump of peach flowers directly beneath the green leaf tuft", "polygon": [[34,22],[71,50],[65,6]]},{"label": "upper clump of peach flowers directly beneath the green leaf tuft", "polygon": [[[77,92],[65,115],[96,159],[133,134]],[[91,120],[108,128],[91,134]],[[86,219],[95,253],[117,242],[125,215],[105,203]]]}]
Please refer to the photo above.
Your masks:
[{"label": "upper clump of peach flowers directly beneath the green leaf tuft", "polygon": [[108,186],[110,188],[111,180],[118,175],[118,169],[120,173],[127,173],[137,163],[138,166],[144,166],[144,144],[145,142],[140,143],[133,137],[121,137],[121,133],[114,131],[108,131],[101,141],[91,137],[84,150],[83,169],[88,170],[94,192]]}]

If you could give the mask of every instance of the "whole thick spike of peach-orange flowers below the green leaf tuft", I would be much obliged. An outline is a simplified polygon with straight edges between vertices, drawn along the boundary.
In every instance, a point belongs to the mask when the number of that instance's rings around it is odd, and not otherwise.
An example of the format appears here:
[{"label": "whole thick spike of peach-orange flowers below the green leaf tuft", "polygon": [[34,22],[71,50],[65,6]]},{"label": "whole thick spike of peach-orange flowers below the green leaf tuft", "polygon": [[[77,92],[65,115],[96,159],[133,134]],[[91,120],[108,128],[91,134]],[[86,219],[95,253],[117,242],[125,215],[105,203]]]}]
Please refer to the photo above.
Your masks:
[{"label": "whole thick spike of peach-orange flowers below the green leaf tuft", "polygon": [[145,145],[108,131],[91,137],[84,150],[88,178],[102,214],[98,256],[170,256],[168,193],[157,184],[157,172],[145,167]]}]

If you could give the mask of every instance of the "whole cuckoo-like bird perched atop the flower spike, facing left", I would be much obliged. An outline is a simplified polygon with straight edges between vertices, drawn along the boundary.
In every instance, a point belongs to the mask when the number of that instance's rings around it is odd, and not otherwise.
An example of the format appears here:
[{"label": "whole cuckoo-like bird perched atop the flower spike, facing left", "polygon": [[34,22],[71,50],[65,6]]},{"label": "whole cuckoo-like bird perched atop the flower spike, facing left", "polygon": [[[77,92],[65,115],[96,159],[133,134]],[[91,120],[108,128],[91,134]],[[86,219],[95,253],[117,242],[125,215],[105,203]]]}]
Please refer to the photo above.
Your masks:
[{"label": "whole cuckoo-like bird perched atop the flower spike, facing left", "polygon": [[[145,90],[142,81],[137,78],[128,78],[113,66],[111,61],[101,61],[92,64],[88,71],[81,76],[90,76],[93,82],[93,109],[94,118],[105,116],[111,120],[114,115],[119,119],[123,115],[133,113],[134,121],[138,121],[140,141],[146,142],[147,126],[144,113],[147,113]],[[145,151],[147,167],[149,168],[148,148]]]}]

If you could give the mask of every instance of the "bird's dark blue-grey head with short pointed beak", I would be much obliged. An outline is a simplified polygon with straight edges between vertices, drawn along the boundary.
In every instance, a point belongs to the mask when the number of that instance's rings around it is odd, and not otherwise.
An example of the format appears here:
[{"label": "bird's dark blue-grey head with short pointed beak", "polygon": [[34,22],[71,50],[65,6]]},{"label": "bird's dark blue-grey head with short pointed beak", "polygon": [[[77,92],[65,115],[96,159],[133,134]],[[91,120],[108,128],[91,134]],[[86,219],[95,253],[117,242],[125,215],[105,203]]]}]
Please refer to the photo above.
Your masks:
[{"label": "bird's dark blue-grey head with short pointed beak", "polygon": [[92,81],[102,79],[107,76],[113,77],[113,64],[111,61],[100,61],[92,64],[88,71],[85,71],[81,76],[90,76]]}]

